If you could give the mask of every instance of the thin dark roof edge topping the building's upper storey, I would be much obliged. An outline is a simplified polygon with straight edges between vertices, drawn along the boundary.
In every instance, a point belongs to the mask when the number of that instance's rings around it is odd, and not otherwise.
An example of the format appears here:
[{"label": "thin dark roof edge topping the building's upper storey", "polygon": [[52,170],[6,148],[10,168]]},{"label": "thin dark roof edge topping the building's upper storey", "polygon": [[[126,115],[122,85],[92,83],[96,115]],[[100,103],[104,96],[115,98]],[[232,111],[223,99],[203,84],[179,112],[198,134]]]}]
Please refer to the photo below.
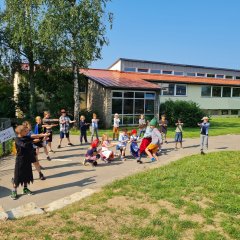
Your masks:
[{"label": "thin dark roof edge topping the building's upper storey", "polygon": [[138,59],[129,59],[129,58],[119,58],[117,59],[108,69],[110,69],[118,61],[128,61],[128,62],[141,62],[141,63],[152,63],[152,64],[162,64],[162,65],[172,65],[179,67],[194,67],[194,68],[203,68],[203,69],[213,69],[213,70],[224,70],[224,71],[234,71],[239,72],[240,69],[231,69],[231,68],[219,68],[219,67],[206,67],[206,66],[197,66],[197,65],[188,65],[188,64],[178,64],[178,63],[167,63],[167,62],[158,62],[158,61],[147,61],[147,60],[138,60]]}]

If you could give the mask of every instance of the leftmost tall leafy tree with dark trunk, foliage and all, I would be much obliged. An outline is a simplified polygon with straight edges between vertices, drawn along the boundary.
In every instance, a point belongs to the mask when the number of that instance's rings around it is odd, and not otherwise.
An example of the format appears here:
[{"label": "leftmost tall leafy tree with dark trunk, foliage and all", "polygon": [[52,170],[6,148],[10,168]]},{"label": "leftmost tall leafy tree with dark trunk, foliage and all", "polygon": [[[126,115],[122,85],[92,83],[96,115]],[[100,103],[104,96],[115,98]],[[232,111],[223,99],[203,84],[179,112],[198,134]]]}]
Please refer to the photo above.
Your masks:
[{"label": "leftmost tall leafy tree with dark trunk, foliage and all", "polygon": [[1,46],[14,52],[29,66],[30,116],[36,110],[34,65],[41,60],[43,51],[39,41],[39,26],[45,12],[43,4],[43,0],[5,0],[5,9],[1,13]]}]

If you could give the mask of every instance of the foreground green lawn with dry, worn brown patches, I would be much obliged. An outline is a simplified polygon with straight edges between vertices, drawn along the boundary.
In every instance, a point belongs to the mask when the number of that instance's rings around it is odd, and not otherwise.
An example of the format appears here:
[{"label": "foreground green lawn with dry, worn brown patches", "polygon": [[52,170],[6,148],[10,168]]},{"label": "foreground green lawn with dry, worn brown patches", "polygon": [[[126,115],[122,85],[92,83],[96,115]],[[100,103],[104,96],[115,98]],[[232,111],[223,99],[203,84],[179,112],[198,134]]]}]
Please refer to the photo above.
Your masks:
[{"label": "foreground green lawn with dry, worn brown patches", "polygon": [[0,222],[0,239],[240,239],[239,169],[240,151],[185,157],[60,211]]}]

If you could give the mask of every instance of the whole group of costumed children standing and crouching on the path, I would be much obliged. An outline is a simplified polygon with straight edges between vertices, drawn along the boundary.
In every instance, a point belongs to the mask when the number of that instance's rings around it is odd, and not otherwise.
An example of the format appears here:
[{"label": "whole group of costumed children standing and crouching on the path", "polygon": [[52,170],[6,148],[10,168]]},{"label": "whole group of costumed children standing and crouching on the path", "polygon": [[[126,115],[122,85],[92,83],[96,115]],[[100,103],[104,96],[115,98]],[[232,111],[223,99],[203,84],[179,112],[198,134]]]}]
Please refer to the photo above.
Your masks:
[{"label": "whole group of costumed children standing and crouching on the path", "polygon": [[[208,146],[208,131],[209,122],[208,118],[204,117],[202,123],[198,125],[201,127],[201,154],[204,154],[204,147]],[[61,110],[61,116],[59,119],[51,119],[50,113],[48,111],[44,112],[44,118],[40,116],[35,118],[36,124],[32,130],[31,123],[25,121],[22,125],[15,129],[16,132],[16,163],[14,170],[14,178],[12,179],[13,191],[11,194],[12,199],[17,199],[17,188],[19,185],[23,185],[23,194],[32,195],[32,192],[28,189],[28,184],[33,182],[32,174],[32,164],[34,165],[36,171],[39,173],[39,178],[45,180],[42,173],[43,167],[38,161],[39,149],[43,148],[46,154],[47,160],[51,161],[49,152],[54,152],[52,150],[52,128],[55,126],[60,126],[60,140],[58,148],[61,148],[61,143],[64,137],[68,140],[68,145],[73,144],[69,139],[69,129],[71,119],[66,116],[65,109]],[[158,158],[158,153],[161,152],[161,145],[165,140],[167,143],[167,125],[165,115],[161,116],[160,121],[153,118],[150,122],[146,121],[144,115],[140,116],[139,119],[139,131],[136,129],[128,133],[127,129],[123,129],[119,134],[120,119],[119,115],[116,113],[113,119],[113,140],[118,142],[111,142],[107,134],[103,134],[102,141],[99,141],[98,136],[98,122],[96,114],[93,114],[92,123],[87,123],[84,116],[80,117],[80,143],[85,143],[87,141],[87,128],[91,125],[91,144],[90,148],[87,150],[83,164],[97,165],[99,159],[102,159],[106,163],[110,163],[114,160],[115,155],[118,155],[122,161],[126,160],[126,150],[127,145],[130,144],[130,153],[138,163],[142,163],[141,158],[147,155],[152,162],[155,162]],[[159,126],[159,128],[158,128]],[[175,149],[178,147],[178,143],[182,148],[182,130],[183,123],[178,119],[176,123],[175,130]],[[96,139],[93,140],[94,134],[96,134]],[[101,145],[101,147],[100,147]],[[116,147],[119,154],[115,154],[112,148]]]}]

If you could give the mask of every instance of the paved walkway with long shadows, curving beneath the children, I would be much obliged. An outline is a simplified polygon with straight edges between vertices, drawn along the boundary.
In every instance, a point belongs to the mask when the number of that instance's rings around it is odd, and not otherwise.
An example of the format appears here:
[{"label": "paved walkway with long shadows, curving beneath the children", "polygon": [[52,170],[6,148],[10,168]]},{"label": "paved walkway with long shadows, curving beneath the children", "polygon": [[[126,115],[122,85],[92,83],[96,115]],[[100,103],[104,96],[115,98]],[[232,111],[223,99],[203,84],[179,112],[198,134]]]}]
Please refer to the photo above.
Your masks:
[{"label": "paved walkway with long shadows, curving beneath the children", "polygon": [[[54,136],[57,140],[58,136]],[[147,158],[143,158],[144,164],[137,164],[135,160],[127,159],[126,162],[116,160],[111,164],[100,161],[96,168],[91,166],[83,166],[81,164],[84,154],[88,148],[87,145],[79,145],[79,137],[71,136],[73,147],[64,147],[52,153],[52,161],[45,160],[44,154],[40,153],[41,165],[47,179],[41,181],[38,174],[34,171],[34,184],[30,189],[34,191],[33,196],[20,196],[18,200],[10,199],[11,178],[13,176],[14,158],[8,157],[0,159],[0,205],[5,210],[18,207],[20,205],[34,202],[39,207],[63,198],[75,192],[79,192],[84,188],[98,189],[115,179],[123,178],[135,172],[145,169],[158,167],[175,161],[183,156],[199,153],[199,139],[185,139],[184,149],[174,150],[174,142],[170,139],[168,144],[163,145],[163,154],[159,157],[157,163],[149,163]],[[56,149],[56,144],[53,146]],[[218,137],[210,137],[209,152],[224,150],[240,150],[240,135],[225,135]],[[18,192],[22,191],[19,188]]]}]

